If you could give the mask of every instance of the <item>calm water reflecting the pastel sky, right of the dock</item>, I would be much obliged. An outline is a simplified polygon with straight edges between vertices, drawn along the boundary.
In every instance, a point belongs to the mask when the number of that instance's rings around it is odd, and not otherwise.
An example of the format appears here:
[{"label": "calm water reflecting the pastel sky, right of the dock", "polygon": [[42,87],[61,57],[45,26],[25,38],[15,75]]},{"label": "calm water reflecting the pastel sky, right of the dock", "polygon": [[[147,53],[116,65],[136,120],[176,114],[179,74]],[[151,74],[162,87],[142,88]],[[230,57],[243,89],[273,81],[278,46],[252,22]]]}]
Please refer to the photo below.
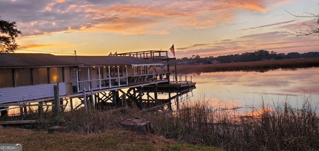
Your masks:
[{"label": "calm water reflecting the pastel sky, right of the dock", "polygon": [[289,103],[301,107],[305,100],[319,104],[319,68],[261,72],[212,72],[193,75],[194,100],[206,99],[221,108],[259,107]]}]

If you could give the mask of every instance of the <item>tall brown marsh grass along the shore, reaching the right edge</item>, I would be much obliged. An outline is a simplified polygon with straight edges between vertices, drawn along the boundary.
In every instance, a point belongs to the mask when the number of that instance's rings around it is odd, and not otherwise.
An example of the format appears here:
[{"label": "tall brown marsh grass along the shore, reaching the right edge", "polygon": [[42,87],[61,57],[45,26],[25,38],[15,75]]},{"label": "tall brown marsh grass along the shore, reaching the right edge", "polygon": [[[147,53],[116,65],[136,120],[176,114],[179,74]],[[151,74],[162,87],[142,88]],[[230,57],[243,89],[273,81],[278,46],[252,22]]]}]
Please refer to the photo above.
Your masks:
[{"label": "tall brown marsh grass along the shore, reaching the right edge", "polygon": [[[176,111],[140,112],[137,107],[114,112],[91,109],[88,114],[82,110],[71,111],[59,117],[46,117],[50,122],[37,125],[37,128],[63,126],[74,134],[103,134],[120,127],[121,120],[145,118],[152,121],[157,135],[181,143],[214,146],[227,151],[319,149],[319,112],[309,100],[299,108],[288,103],[272,106],[262,103],[260,108],[245,113],[237,110],[212,106],[207,100],[198,99],[184,102]],[[172,147],[172,150],[179,148]]]}]

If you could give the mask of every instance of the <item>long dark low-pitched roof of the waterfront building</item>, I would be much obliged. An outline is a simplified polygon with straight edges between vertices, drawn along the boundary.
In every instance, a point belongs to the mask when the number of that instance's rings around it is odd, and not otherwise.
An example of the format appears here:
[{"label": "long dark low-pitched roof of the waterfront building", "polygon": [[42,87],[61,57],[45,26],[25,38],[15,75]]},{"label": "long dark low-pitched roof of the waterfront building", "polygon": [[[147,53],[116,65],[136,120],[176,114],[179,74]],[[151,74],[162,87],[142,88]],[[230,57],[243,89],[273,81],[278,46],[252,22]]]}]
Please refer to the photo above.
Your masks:
[{"label": "long dark low-pitched roof of the waterfront building", "polygon": [[0,68],[162,65],[130,56],[56,56],[44,53],[0,53]]}]

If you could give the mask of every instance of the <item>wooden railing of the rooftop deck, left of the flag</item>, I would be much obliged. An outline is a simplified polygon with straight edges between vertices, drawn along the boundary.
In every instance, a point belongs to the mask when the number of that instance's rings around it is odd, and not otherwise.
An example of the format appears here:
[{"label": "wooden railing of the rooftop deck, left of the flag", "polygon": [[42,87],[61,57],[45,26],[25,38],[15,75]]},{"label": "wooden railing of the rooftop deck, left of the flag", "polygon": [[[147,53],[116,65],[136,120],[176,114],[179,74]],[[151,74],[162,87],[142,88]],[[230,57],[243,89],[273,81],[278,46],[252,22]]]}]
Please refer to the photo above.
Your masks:
[{"label": "wooden railing of the rooftop deck, left of the flag", "polygon": [[148,60],[167,60],[167,51],[149,50],[139,52],[128,52],[128,53],[116,53],[111,54],[113,56],[132,56],[136,58],[148,59]]}]

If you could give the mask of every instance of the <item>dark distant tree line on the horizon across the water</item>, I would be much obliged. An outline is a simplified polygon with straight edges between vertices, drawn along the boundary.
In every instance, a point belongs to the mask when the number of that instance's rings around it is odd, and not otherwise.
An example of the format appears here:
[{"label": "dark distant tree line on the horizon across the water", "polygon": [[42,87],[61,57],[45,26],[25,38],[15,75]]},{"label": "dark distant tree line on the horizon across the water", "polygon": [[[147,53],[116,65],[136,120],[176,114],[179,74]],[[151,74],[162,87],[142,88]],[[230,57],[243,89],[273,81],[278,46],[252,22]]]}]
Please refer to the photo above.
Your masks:
[{"label": "dark distant tree line on the horizon across the water", "polygon": [[183,57],[174,60],[177,64],[216,64],[216,63],[230,63],[230,62],[249,62],[262,60],[280,60],[280,59],[296,59],[296,58],[316,58],[319,57],[319,52],[298,53],[291,52],[288,54],[277,53],[274,51],[258,50],[255,52],[245,52],[242,54],[230,54],[217,57],[204,57],[199,55],[192,55],[190,58]]}]

